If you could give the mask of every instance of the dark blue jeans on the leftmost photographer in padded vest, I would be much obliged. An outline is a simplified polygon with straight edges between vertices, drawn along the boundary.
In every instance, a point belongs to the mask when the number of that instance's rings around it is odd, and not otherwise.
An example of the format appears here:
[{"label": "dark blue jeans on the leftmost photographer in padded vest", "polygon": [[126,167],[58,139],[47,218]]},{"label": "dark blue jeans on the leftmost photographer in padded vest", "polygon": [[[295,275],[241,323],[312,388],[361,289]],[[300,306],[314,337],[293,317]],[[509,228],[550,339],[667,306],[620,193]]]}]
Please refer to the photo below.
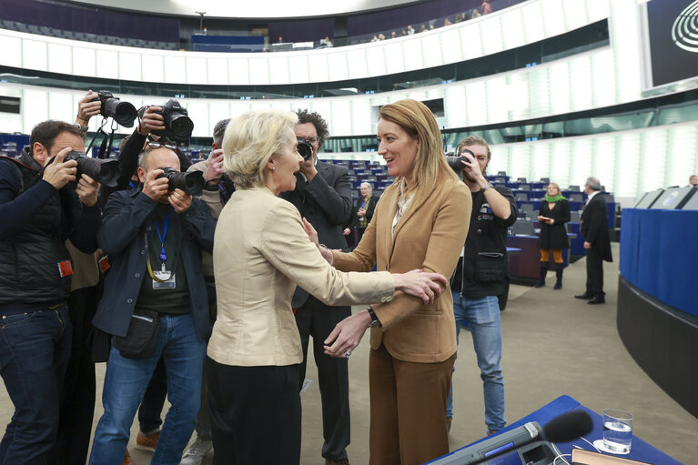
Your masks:
[{"label": "dark blue jeans on the leftmost photographer in padded vest", "polygon": [[0,335],[0,373],[15,405],[0,442],[0,463],[53,464],[72,343],[68,308],[2,315]]}]

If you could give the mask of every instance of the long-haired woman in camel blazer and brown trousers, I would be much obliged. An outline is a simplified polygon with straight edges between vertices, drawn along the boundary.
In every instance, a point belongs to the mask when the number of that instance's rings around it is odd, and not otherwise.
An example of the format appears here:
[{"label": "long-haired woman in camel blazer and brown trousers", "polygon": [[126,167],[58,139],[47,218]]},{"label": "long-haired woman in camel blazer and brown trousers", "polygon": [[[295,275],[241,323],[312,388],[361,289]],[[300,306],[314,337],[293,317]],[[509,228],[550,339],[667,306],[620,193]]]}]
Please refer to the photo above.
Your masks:
[{"label": "long-haired woman in camel blazer and brown trousers", "polygon": [[[373,220],[351,253],[320,248],[342,271],[450,276],[468,234],[470,192],[446,165],[439,126],[415,100],[382,106],[379,155],[397,177],[380,197]],[[449,452],[444,415],[456,352],[450,289],[428,305],[399,293],[371,306],[369,355],[370,464],[420,464]],[[352,350],[369,311],[343,320],[329,335],[330,355]]]}]

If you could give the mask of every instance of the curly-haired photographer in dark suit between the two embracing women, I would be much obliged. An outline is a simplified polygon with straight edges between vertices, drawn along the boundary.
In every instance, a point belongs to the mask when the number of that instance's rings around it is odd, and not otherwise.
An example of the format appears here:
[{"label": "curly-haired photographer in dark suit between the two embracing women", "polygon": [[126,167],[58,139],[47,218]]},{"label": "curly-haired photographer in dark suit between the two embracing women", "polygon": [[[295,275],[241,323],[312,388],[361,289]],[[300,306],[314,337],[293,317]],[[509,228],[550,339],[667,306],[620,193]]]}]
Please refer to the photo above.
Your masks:
[{"label": "curly-haired photographer in dark suit between the two embracing women", "polygon": [[[346,167],[323,163],[318,151],[329,136],[328,124],[317,113],[298,110],[294,131],[310,147],[312,154],[296,174],[296,188],[281,194],[295,205],[318,231],[319,241],[327,248],[347,248],[342,225],[349,224],[352,214],[351,181]],[[349,306],[329,307],[302,288],[297,288],[291,305],[303,344],[300,386],[306,377],[309,337],[313,337],[313,354],[318,366],[322,399],[322,457],[327,465],[349,465],[349,366],[347,359],[324,354],[323,342],[337,323],[351,315]]]}]

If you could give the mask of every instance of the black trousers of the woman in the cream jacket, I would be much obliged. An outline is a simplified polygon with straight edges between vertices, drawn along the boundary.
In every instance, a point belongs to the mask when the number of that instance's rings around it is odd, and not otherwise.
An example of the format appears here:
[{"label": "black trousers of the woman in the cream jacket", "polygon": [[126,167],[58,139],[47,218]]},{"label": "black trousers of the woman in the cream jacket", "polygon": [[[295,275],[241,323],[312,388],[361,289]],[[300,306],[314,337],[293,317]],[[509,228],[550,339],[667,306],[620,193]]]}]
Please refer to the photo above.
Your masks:
[{"label": "black trousers of the woman in the cream jacket", "polygon": [[214,465],[298,465],[298,365],[234,367],[213,359],[207,364]]}]

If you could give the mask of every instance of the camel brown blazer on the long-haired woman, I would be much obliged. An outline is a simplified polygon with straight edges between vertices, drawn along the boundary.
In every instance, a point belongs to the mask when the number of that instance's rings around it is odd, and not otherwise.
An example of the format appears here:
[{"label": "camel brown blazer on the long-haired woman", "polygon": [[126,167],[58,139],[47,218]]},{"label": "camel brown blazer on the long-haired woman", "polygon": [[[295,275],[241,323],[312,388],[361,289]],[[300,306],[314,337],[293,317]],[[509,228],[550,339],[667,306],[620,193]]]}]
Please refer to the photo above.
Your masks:
[{"label": "camel brown blazer on the long-haired woman", "polygon": [[[472,197],[468,188],[450,177],[420,204],[412,202],[391,234],[400,188],[394,184],[380,197],[373,220],[351,253],[333,252],[335,268],[405,273],[422,268],[450,277],[468,236]],[[382,328],[371,329],[370,344],[396,359],[435,363],[456,351],[456,329],[450,288],[423,305],[420,298],[398,292],[389,302],[372,306]]]}]

